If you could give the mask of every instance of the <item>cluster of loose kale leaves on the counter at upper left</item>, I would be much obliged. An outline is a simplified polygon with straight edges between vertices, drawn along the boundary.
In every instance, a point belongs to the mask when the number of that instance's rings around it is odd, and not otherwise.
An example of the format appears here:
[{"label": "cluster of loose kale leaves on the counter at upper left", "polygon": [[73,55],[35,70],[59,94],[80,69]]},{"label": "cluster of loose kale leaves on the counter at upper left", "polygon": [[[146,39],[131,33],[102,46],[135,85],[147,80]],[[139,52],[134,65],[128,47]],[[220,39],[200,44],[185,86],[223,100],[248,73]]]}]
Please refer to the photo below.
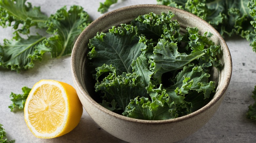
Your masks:
[{"label": "cluster of loose kale leaves on the counter at upper left", "polygon": [[[51,52],[52,57],[70,55],[76,38],[91,23],[88,13],[80,6],[71,6],[69,11],[64,6],[48,18],[39,7],[32,8],[31,3],[27,6],[25,2],[0,0],[0,25],[11,26],[14,22],[12,26],[17,29],[23,24],[11,40],[4,40],[0,45],[0,66],[17,72],[33,68],[33,61],[41,60],[45,52]],[[51,37],[29,35],[32,26],[47,28]],[[22,38],[18,32],[28,38]]]}]

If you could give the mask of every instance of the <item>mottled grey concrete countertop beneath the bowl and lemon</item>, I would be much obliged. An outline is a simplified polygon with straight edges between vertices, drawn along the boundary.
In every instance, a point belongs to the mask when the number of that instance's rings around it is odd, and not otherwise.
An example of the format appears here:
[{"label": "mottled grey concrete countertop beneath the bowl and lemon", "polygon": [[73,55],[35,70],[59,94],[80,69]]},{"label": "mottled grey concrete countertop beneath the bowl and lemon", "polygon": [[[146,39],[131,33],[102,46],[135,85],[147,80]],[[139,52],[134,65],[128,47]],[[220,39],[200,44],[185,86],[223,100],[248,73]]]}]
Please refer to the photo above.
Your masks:
[{"label": "mottled grey concrete countertop beneath the bowl and lemon", "polygon": [[[31,2],[32,6],[40,6],[41,11],[48,16],[65,5],[67,8],[79,5],[88,12],[92,20],[95,20],[102,15],[97,12],[97,8],[99,2],[104,0],[28,0],[28,2]],[[109,11],[129,5],[156,3],[156,0],[118,0],[118,3],[112,5]],[[3,39],[11,39],[11,37],[11,28],[0,28],[1,44]],[[224,101],[208,123],[179,143],[256,141],[256,121],[246,119],[248,106],[253,103],[251,95],[256,85],[256,53],[244,39],[232,37],[225,40],[232,56],[233,73]],[[40,139],[32,135],[24,121],[23,111],[13,113],[8,108],[11,104],[9,96],[11,92],[22,93],[23,86],[32,87],[41,79],[58,80],[74,86],[70,56],[52,59],[49,54],[45,54],[41,62],[35,62],[34,68],[21,73],[0,70],[0,124],[3,124],[9,140],[15,139],[16,143],[124,142],[101,129],[85,110],[78,126],[66,135],[53,139]]]}]

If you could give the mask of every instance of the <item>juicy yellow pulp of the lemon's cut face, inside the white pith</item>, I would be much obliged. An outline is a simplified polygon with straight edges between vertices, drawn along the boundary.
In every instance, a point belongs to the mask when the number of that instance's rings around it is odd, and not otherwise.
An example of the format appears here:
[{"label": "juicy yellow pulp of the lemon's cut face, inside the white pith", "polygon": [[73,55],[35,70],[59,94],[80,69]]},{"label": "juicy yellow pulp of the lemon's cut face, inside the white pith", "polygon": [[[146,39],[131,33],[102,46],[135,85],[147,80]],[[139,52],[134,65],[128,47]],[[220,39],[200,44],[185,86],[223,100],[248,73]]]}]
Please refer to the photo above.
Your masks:
[{"label": "juicy yellow pulp of the lemon's cut face, inside the white pith", "polygon": [[65,110],[61,90],[54,85],[43,84],[30,100],[29,120],[39,133],[53,133],[63,122]]}]

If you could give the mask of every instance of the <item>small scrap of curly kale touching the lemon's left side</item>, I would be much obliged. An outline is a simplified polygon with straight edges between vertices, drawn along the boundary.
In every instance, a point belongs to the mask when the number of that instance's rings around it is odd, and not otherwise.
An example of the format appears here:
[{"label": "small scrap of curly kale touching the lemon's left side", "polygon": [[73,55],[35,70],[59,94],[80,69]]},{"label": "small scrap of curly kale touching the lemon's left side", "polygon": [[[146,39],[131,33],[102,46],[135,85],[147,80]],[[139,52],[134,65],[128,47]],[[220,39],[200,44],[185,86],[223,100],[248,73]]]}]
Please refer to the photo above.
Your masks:
[{"label": "small scrap of curly kale touching the lemon's left side", "polygon": [[11,109],[11,112],[14,110],[24,109],[24,105],[28,98],[29,92],[31,91],[31,88],[22,87],[21,89],[23,94],[15,94],[11,92],[10,98],[11,98],[12,104],[9,106],[9,108]]}]

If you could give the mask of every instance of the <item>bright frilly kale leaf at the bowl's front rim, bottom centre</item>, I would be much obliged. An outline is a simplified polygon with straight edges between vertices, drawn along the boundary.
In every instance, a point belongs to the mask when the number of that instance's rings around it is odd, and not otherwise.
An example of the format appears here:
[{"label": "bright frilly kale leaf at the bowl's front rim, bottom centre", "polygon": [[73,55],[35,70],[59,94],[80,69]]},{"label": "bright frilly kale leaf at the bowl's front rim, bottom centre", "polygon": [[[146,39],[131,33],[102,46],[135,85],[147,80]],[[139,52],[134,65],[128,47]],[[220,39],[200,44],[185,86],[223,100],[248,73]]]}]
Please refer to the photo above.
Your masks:
[{"label": "bright frilly kale leaf at the bowl's front rim, bottom centre", "polygon": [[[149,85],[150,86],[150,85]],[[151,89],[151,90],[150,90]],[[164,120],[176,117],[174,102],[169,98],[165,89],[160,86],[157,89],[149,88],[149,98],[136,97],[131,100],[122,115],[145,120]]]}]

